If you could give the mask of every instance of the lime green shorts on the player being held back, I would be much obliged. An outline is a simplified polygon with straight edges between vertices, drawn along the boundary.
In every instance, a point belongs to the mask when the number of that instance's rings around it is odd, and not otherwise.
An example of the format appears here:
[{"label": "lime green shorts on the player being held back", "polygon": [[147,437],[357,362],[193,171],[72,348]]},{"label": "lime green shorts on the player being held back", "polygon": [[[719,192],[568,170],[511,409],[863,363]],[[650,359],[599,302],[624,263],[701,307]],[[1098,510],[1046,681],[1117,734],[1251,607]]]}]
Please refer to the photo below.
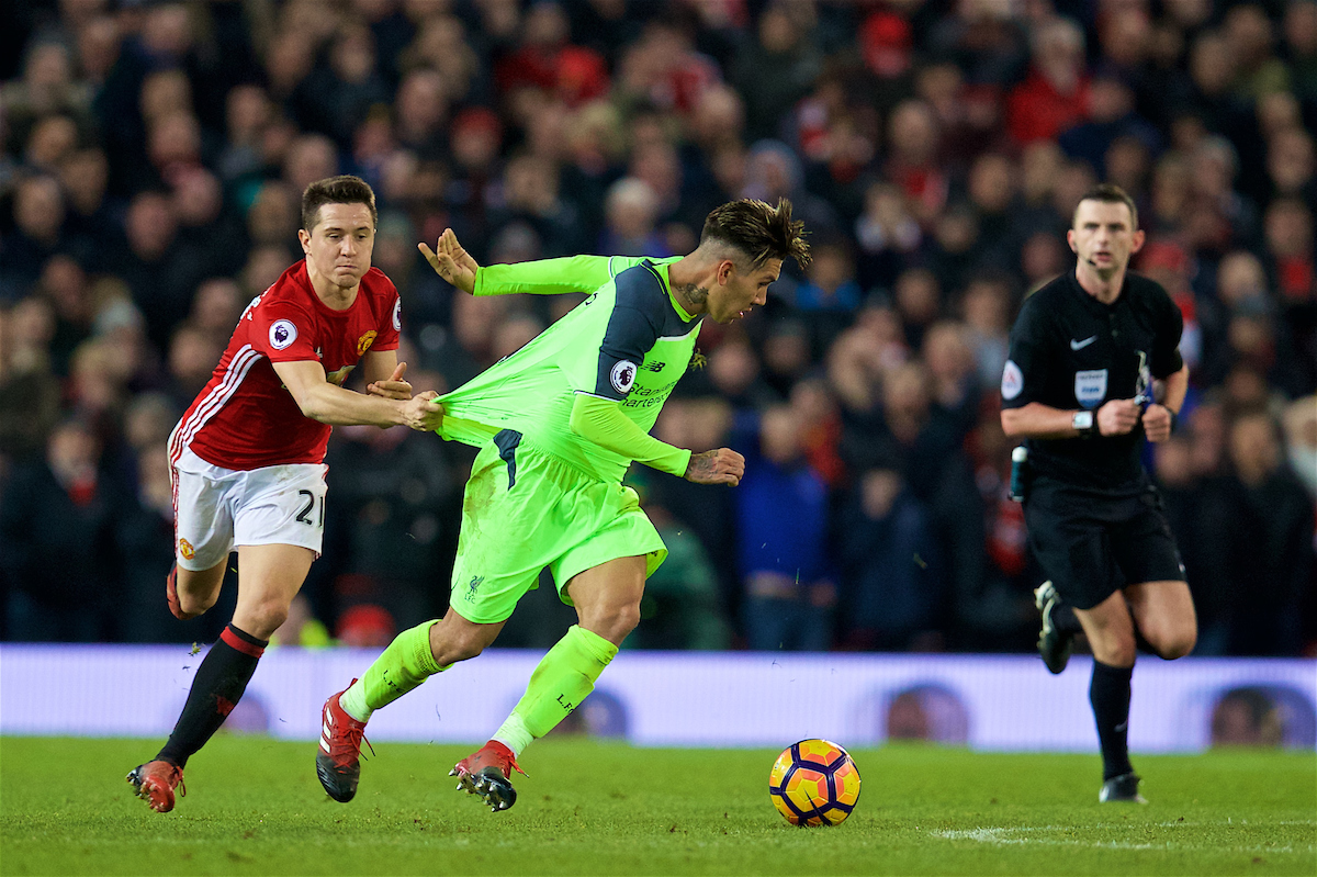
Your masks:
[{"label": "lime green shorts on the player being held back", "polygon": [[548,566],[558,598],[572,606],[573,575],[639,556],[648,578],[668,549],[636,491],[598,481],[504,429],[471,464],[449,602],[477,624],[507,620]]}]

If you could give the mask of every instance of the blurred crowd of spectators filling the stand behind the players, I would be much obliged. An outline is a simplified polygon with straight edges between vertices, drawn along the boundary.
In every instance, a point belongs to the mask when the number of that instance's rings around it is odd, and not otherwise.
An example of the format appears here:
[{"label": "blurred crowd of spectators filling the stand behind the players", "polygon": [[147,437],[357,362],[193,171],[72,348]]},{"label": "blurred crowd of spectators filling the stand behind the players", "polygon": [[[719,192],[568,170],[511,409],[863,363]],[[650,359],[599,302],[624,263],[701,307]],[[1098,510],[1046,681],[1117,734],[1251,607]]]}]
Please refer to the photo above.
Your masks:
[{"label": "blurred crowd of spectators filling the stand behind the players", "polygon": [[[1192,390],[1148,450],[1198,654],[1317,649],[1314,0],[25,0],[0,9],[0,619],[8,640],[207,641],[175,622],[166,438],[294,259],[311,180],[379,200],[400,358],[456,387],[579,296],[473,299],[419,258],[684,254],[792,199],[814,262],[701,333],[657,427],[739,489],[636,467],[668,541],[639,648],[1029,651],[1042,578],[998,419],[1023,298],[1118,183]],[[329,449],[324,557],[282,643],[443,614],[471,453]],[[229,606],[232,587],[227,589]],[[554,641],[533,591],[500,645]]]}]

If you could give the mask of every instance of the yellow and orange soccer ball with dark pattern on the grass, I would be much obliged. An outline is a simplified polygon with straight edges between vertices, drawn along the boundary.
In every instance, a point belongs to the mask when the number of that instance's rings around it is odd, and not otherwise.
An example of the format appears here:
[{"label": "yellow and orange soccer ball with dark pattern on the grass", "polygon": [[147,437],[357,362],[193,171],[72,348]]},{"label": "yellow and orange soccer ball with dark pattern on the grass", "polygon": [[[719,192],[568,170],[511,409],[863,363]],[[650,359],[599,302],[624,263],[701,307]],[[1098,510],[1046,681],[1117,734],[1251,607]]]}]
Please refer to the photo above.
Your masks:
[{"label": "yellow and orange soccer ball with dark pattern on the grass", "polygon": [[793,826],[838,826],[860,799],[860,770],[835,743],[801,740],[777,756],[768,794]]}]

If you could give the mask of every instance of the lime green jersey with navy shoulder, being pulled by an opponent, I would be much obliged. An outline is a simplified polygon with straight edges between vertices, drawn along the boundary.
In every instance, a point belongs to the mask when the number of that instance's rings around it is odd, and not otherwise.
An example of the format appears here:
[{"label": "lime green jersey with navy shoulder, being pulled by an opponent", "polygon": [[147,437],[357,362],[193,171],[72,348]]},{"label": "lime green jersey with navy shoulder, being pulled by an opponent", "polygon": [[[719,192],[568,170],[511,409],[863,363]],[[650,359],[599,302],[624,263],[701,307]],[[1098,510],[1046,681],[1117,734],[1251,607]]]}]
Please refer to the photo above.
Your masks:
[{"label": "lime green jersey with navy shoulder, being pulled by an opponent", "polygon": [[577,394],[620,403],[649,432],[686,373],[699,320],[681,309],[668,284],[677,258],[577,255],[482,267],[475,295],[591,292],[566,316],[510,357],[441,396],[440,435],[482,446],[500,429],[601,481],[620,482],[623,454],[570,428]]}]

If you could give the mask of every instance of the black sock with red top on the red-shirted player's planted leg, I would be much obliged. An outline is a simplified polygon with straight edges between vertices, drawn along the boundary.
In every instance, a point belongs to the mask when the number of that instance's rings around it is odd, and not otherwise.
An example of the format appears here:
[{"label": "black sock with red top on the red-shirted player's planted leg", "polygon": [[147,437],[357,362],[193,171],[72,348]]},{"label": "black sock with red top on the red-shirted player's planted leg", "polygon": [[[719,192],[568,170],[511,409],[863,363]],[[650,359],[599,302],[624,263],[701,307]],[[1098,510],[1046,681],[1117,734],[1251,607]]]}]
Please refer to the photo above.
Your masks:
[{"label": "black sock with red top on the red-shirted player's planted leg", "polygon": [[159,755],[161,761],[187,765],[188,757],[205,745],[246,691],[257,661],[269,640],[258,640],[229,624],[220,633],[202,666],[196,668],[192,690],[187,693],[183,715]]}]

